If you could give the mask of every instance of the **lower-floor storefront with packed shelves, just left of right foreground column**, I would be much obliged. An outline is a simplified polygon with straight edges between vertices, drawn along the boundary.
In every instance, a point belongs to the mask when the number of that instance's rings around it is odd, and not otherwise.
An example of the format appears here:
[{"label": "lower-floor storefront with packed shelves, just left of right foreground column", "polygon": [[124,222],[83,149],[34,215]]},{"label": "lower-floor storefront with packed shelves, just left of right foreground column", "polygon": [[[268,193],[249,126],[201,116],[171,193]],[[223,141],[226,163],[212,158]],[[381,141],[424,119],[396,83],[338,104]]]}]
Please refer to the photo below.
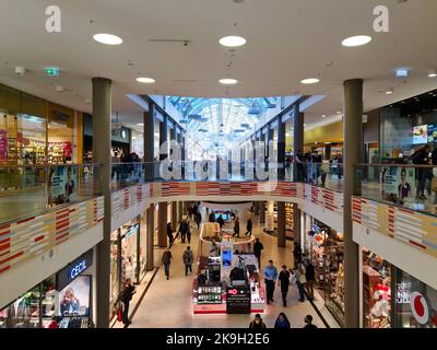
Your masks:
[{"label": "lower-floor storefront with packed shelves, just left of right foreground column", "polygon": [[[315,287],[340,325],[344,324],[344,241],[343,234],[322,222],[312,221],[307,232],[306,258],[315,267]],[[308,255],[309,253],[309,255]]]}]

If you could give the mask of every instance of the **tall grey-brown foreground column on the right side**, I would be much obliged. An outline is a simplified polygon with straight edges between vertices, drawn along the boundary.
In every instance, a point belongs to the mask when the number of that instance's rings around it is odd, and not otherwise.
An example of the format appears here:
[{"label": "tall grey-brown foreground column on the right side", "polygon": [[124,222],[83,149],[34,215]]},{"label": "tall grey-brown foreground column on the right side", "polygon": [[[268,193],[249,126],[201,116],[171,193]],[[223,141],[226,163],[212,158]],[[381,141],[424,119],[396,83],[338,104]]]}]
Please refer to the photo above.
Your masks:
[{"label": "tall grey-brown foreground column on the right side", "polygon": [[345,327],[359,327],[359,265],[358,245],[352,240],[352,196],[356,192],[357,178],[354,164],[363,160],[363,80],[344,82],[344,308]]}]

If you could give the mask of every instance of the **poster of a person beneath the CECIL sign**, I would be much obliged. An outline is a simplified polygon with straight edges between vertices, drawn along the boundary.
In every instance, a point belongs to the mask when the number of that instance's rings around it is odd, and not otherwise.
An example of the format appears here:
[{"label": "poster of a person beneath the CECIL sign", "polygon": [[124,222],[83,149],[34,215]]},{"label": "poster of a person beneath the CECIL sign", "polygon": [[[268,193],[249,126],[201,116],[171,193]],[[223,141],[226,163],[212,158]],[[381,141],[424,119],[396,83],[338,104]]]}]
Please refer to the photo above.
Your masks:
[{"label": "poster of a person beneath the CECIL sign", "polygon": [[79,276],[59,292],[58,316],[90,316],[91,276]]}]

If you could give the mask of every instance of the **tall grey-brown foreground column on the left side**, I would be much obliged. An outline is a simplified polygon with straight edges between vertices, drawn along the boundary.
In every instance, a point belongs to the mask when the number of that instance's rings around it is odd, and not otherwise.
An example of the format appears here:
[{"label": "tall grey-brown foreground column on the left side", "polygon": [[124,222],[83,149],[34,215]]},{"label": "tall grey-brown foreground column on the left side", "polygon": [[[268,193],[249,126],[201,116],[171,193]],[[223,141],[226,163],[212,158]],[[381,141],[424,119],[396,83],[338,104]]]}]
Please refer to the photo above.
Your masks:
[{"label": "tall grey-brown foreground column on the left side", "polygon": [[105,196],[104,237],[97,245],[97,324],[98,328],[109,327],[110,298],[110,115],[111,81],[93,78],[93,162],[102,164],[101,189]]}]

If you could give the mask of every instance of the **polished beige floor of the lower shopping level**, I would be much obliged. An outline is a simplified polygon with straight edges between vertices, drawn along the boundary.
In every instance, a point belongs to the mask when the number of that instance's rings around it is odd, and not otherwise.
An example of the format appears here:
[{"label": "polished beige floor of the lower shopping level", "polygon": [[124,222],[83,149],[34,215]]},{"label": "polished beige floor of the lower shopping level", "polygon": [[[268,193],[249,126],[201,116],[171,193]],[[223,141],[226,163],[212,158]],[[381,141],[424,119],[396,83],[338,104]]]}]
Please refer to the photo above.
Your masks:
[{"label": "polished beige floor of the lower shopping level", "polygon": [[[269,259],[273,259],[276,267],[283,264],[288,267],[293,266],[292,245],[291,241],[287,242],[286,248],[280,248],[276,245],[276,238],[262,232],[262,228],[257,223],[257,218],[253,219],[256,236],[264,245],[262,253],[261,265],[265,266]],[[245,228],[246,223],[240,223]],[[198,232],[193,230],[193,237],[190,246],[197,256],[198,250]],[[132,318],[132,328],[247,328],[252,315],[193,315],[192,314],[192,280],[194,275],[185,276],[182,253],[188,244],[181,244],[179,240],[176,241],[172,247],[173,262],[170,266],[170,279],[166,280],[164,276],[164,268],[160,266],[157,275],[149,288],[144,299],[139,305],[138,311]],[[162,250],[155,250],[156,264],[161,265]],[[328,310],[323,306],[320,296],[316,296],[316,304],[321,314],[331,327],[338,327],[336,323],[329,314]],[[274,326],[274,322],[280,312],[284,312],[293,328],[300,328],[304,326],[304,318],[307,314],[312,315],[314,324],[318,327],[324,328],[321,318],[318,316],[314,306],[306,301],[305,303],[298,302],[297,290],[291,287],[287,300],[287,307],[282,306],[281,291],[275,288],[275,302],[267,306],[262,318],[268,328]],[[132,310],[134,305],[131,306]]]}]

